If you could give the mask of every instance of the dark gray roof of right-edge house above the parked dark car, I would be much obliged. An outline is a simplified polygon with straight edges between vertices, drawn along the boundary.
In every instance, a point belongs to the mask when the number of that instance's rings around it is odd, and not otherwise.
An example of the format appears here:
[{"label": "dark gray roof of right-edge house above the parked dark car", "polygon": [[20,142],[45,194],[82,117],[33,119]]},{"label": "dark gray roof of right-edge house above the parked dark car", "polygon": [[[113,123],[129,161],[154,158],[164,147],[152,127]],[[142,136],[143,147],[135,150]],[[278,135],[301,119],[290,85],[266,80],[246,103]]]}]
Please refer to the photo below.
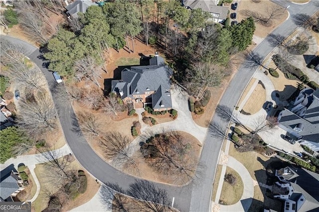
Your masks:
[{"label": "dark gray roof of right-edge house above the parked dark car", "polygon": [[[299,104],[303,108],[296,111],[301,116],[291,111],[294,105],[282,111],[279,122],[293,132],[290,132],[290,135],[294,139],[302,137],[303,140],[319,143],[319,89],[308,89],[303,92],[305,100]],[[296,127],[302,127],[302,131],[294,130]]]}]

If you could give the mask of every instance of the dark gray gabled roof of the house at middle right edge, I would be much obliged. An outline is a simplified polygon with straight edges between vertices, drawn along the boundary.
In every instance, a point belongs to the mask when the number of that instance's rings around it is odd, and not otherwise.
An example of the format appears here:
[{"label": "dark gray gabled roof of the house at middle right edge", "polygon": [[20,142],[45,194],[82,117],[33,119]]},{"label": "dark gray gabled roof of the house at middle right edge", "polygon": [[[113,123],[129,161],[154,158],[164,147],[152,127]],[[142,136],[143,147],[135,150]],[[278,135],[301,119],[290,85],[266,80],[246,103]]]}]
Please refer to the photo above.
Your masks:
[{"label": "dark gray gabled roof of the house at middle right edge", "polygon": [[[311,89],[308,91],[311,91]],[[312,96],[308,98],[310,99],[310,102],[307,103],[307,110],[304,117],[300,117],[285,108],[282,112],[280,125],[293,131],[294,134],[302,136],[302,139],[304,140],[319,143],[319,99],[313,95],[313,90],[311,94]],[[317,94],[317,91],[314,94]],[[304,127],[301,132],[294,130],[299,124],[302,124]]]}]

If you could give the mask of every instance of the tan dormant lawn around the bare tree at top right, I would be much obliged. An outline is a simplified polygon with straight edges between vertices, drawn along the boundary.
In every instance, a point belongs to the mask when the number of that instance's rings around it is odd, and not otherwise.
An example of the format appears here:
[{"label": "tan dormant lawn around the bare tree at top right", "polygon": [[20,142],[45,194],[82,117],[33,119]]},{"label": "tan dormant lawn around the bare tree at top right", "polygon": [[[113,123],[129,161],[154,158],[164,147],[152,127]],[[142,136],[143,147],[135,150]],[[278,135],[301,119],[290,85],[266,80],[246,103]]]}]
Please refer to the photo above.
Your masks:
[{"label": "tan dormant lawn around the bare tree at top right", "polygon": [[[259,2],[254,2],[253,0],[243,0],[238,3],[238,11],[237,11],[237,21],[240,22],[242,19],[246,19],[248,16],[244,15],[243,11],[245,9],[258,12],[264,15],[266,12],[266,8],[271,8],[272,6],[276,6],[277,4],[270,0],[261,0]],[[280,18],[274,19],[270,26],[264,26],[260,23],[256,23],[256,31],[255,36],[260,38],[266,37],[269,33],[271,33],[279,24],[286,20],[288,17],[288,11],[283,8],[283,13]]]}]

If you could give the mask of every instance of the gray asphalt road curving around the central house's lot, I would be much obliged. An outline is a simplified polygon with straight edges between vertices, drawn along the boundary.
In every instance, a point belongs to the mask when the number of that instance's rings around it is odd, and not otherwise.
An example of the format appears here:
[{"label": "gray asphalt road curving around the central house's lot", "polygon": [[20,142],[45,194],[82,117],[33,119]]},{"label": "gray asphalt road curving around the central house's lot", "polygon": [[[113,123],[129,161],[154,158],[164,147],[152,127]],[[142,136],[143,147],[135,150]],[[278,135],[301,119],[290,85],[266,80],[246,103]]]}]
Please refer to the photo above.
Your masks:
[{"label": "gray asphalt road curving around the central house's lot", "polygon": [[[306,13],[312,16],[316,11],[318,11],[318,5],[314,2],[310,2],[305,5],[296,5],[285,0],[280,0],[278,2],[283,6],[290,5],[288,9],[290,14]],[[280,25],[276,30],[274,30],[273,33],[287,37],[297,27],[298,26],[295,25],[290,18]],[[29,58],[41,69],[49,85],[55,83],[52,73],[49,72],[45,66],[43,66],[45,61],[43,61],[41,56],[42,53],[40,53],[39,49],[34,50],[33,46],[30,46],[30,44],[16,38],[8,36],[1,36],[1,38],[2,37],[5,37],[7,40],[10,40],[13,43],[23,44],[26,48],[32,51],[32,53],[28,55]],[[273,48],[274,47],[272,47],[267,40],[264,40],[254,49],[254,52],[265,58],[273,50]],[[219,104],[229,107],[235,106],[255,70],[256,67],[245,68],[244,66],[241,66],[230,82],[229,87],[225,91]],[[55,97],[53,101],[58,110],[58,115],[66,141],[79,163],[94,177],[105,184],[116,183],[125,190],[128,189],[132,183],[135,183],[137,178],[124,174],[108,165],[92,150],[82,133],[77,133],[72,130],[73,120],[71,117],[73,117],[75,114],[71,103],[57,97]],[[226,127],[228,125],[227,122],[221,120],[217,115],[212,117],[212,121],[220,123],[226,131]],[[208,131],[200,157],[200,162],[206,166],[202,182],[197,184],[191,183],[184,187],[174,187],[154,183],[158,187],[165,189],[170,199],[173,197],[175,198],[175,208],[182,212],[210,211],[209,207],[211,202],[211,191],[221,145],[222,139],[213,137],[212,133]]]}]

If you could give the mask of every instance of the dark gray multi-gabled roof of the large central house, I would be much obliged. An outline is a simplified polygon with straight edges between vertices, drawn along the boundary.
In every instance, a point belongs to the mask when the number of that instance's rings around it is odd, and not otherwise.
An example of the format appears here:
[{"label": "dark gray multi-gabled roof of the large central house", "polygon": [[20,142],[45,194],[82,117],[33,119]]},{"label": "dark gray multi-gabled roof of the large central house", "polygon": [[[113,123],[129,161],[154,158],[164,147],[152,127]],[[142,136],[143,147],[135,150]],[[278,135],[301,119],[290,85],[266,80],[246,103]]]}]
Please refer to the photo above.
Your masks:
[{"label": "dark gray multi-gabled roof of the large central house", "polygon": [[121,98],[133,98],[147,91],[152,94],[153,108],[171,107],[170,76],[171,69],[164,64],[164,59],[156,56],[150,59],[149,66],[134,66],[122,71],[122,80],[112,81],[112,92],[120,93]]}]

